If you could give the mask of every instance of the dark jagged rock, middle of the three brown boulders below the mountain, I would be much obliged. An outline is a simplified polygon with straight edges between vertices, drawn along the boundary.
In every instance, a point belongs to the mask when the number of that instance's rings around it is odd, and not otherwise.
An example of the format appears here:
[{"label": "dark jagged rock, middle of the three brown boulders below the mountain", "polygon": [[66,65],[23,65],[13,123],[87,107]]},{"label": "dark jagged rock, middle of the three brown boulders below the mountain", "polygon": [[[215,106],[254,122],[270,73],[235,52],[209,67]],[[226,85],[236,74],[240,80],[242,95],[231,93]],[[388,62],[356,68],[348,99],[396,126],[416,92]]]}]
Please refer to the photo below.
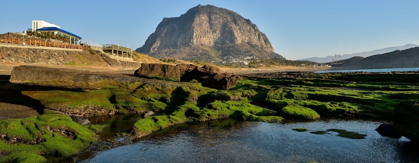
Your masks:
[{"label": "dark jagged rock, middle of the three brown boulders below the mountain", "polygon": [[178,66],[180,69],[180,81],[182,82],[190,82],[193,80],[200,82],[213,74],[221,72],[219,67],[212,65],[203,65],[202,67],[198,67],[194,64],[181,63],[177,64],[176,66]]}]

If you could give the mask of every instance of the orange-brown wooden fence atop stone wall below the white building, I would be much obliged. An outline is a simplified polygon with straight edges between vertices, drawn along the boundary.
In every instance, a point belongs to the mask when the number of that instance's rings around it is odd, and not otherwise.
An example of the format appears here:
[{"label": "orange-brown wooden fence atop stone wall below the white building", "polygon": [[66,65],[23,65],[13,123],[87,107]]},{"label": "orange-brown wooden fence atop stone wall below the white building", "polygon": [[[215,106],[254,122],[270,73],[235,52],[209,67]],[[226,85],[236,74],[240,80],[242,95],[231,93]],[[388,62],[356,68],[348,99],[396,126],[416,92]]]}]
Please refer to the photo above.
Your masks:
[{"label": "orange-brown wooden fence atop stone wall below the white building", "polygon": [[23,45],[25,41],[25,45],[31,46],[46,46],[46,47],[60,47],[60,48],[67,48],[67,49],[82,49],[83,46],[81,45],[74,45],[71,43],[63,43],[63,42],[56,42],[56,41],[46,41],[46,40],[31,40],[22,38],[15,38],[15,37],[0,37],[0,43],[10,43],[10,44],[19,44]]}]

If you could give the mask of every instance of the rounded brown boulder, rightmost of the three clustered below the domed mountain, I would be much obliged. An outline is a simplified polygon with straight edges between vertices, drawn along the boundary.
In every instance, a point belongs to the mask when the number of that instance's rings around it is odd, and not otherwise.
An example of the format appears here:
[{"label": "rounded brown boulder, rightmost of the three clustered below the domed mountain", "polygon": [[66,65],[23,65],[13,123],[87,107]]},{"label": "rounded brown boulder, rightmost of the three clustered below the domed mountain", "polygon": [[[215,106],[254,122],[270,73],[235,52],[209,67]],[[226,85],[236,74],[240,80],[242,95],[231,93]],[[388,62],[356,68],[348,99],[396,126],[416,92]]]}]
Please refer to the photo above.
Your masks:
[{"label": "rounded brown boulder, rightmost of the three clustered below the domed mountain", "polygon": [[239,82],[240,76],[232,73],[218,73],[214,74],[201,81],[202,86],[219,89],[219,90],[228,90],[232,86],[236,85]]}]

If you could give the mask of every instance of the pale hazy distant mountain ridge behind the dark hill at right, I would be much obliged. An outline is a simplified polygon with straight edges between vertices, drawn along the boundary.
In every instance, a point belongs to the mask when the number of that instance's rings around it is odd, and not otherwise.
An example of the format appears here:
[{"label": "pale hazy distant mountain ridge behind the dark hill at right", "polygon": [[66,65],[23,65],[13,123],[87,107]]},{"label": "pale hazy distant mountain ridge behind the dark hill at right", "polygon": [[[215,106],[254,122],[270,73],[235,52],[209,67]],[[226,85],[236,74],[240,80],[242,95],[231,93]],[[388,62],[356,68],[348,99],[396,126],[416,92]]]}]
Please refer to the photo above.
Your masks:
[{"label": "pale hazy distant mountain ridge behind the dark hill at right", "polygon": [[[395,47],[387,47],[387,48],[383,48],[383,49],[377,49],[377,50],[373,50],[373,51],[369,51],[369,52],[362,52],[362,53],[353,53],[353,54],[345,54],[345,55],[341,55],[341,60],[346,60],[352,57],[368,57],[368,56],[372,56],[372,55],[376,55],[376,54],[383,54],[383,53],[388,53],[388,52],[392,52],[394,50],[404,50],[404,49],[409,49],[412,47],[416,47],[419,46],[417,44],[405,44],[404,46],[395,46]],[[299,59],[299,61],[315,61],[318,63],[325,63],[325,62],[330,62],[332,60],[335,60],[335,56],[327,56],[327,57],[312,57],[312,58],[305,58],[305,59]],[[337,59],[339,60],[339,56],[337,57]]]}]

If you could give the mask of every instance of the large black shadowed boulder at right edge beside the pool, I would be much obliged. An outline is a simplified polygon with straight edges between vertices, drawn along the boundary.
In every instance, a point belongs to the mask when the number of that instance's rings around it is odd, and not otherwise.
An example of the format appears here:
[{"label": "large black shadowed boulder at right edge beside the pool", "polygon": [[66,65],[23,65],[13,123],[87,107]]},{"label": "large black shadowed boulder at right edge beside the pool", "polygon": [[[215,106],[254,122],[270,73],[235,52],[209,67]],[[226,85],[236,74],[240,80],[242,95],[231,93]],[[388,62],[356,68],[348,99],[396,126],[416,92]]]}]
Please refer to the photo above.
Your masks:
[{"label": "large black shadowed boulder at right edge beside the pool", "polygon": [[419,143],[419,101],[400,102],[394,108],[394,130]]}]

